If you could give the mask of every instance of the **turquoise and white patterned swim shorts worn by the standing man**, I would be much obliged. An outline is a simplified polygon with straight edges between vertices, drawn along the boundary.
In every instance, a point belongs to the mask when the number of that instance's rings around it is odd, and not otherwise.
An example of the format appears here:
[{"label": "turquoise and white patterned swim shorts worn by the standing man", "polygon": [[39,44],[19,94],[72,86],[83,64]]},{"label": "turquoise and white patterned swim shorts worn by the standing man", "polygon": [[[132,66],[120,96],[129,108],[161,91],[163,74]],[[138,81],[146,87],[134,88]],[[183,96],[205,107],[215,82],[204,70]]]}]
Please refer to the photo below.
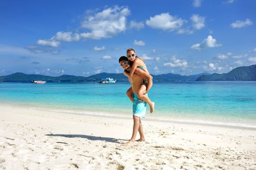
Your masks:
[{"label": "turquoise and white patterned swim shorts worn by the standing man", "polygon": [[[146,94],[147,96],[147,94]],[[146,116],[146,102],[139,99],[136,93],[132,94],[133,98],[133,106],[132,106],[132,112],[133,116],[145,118]]]}]

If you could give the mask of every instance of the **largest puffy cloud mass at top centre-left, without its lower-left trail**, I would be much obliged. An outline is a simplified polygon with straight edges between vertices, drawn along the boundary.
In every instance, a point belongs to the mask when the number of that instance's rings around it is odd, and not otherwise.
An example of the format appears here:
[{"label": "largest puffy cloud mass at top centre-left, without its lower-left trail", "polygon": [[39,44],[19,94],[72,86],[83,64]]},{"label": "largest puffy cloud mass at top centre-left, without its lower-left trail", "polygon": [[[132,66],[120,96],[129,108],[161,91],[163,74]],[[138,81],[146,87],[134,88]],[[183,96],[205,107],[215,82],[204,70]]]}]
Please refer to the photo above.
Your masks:
[{"label": "largest puffy cloud mass at top centre-left, without its lower-left trail", "polygon": [[81,28],[90,31],[81,33],[80,36],[85,39],[111,38],[126,30],[126,17],[128,15],[130,15],[128,8],[114,6],[88,16],[82,21]]}]

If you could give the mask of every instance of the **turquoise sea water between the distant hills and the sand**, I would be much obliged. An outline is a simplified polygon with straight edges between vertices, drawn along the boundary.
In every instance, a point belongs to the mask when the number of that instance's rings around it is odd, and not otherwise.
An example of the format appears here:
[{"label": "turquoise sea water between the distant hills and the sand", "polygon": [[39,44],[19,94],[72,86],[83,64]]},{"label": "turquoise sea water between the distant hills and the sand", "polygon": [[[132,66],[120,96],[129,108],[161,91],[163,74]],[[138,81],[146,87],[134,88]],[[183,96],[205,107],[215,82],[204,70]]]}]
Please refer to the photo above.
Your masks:
[{"label": "turquoise sea water between the distant hills and the sand", "polygon": [[[0,103],[76,114],[131,117],[129,83],[0,83]],[[256,128],[256,82],[155,82],[146,119]]]}]

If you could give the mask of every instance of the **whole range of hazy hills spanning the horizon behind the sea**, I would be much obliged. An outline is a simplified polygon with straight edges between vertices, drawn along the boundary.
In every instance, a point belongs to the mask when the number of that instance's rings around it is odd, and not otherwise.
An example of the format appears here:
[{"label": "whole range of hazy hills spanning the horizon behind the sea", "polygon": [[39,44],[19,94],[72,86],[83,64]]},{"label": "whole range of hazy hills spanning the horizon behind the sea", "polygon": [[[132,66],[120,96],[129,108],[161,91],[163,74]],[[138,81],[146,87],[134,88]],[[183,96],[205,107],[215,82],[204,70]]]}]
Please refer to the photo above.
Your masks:
[{"label": "whole range of hazy hills spanning the horizon behind the sea", "polygon": [[[256,81],[256,65],[248,67],[238,67],[228,73],[209,74],[201,73],[190,76],[180,74],[159,74],[152,75],[154,82],[174,82],[174,81]],[[102,78],[113,78],[119,82],[128,82],[128,78],[123,73],[99,73],[89,77],[61,75],[58,77],[45,76],[39,74],[13,73],[6,76],[0,76],[0,82],[31,82],[32,80],[42,80],[49,82],[96,82]]]}]

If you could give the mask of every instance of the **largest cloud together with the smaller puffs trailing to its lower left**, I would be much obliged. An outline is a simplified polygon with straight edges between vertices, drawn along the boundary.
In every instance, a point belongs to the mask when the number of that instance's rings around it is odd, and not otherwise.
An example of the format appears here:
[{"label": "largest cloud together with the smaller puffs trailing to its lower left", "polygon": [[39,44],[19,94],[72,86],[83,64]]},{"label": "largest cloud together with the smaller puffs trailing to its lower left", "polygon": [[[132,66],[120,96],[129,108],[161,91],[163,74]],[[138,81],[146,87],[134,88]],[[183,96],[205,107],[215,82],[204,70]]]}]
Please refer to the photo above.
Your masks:
[{"label": "largest cloud together with the smaller puffs trailing to its lower left", "polygon": [[39,39],[37,45],[58,47],[59,41],[79,41],[81,37],[85,39],[111,38],[126,30],[126,17],[130,11],[126,7],[114,6],[98,13],[88,10],[86,14],[88,16],[81,22],[79,28],[79,30],[84,29],[84,33],[57,32],[51,39]]}]

